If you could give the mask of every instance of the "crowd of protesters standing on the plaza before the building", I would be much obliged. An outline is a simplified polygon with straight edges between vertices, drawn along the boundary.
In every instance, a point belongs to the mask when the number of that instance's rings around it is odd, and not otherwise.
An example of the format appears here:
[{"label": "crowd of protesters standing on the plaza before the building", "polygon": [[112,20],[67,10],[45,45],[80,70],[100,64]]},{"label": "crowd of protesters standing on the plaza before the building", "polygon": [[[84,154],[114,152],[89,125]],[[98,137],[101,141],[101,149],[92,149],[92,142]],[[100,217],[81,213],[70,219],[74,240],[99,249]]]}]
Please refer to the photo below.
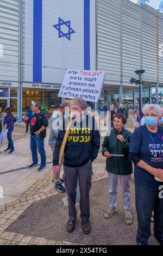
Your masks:
[{"label": "crowd of protesters standing on the plaza before the building", "polygon": [[[71,114],[69,108],[71,107]],[[107,107],[107,106],[105,106]],[[46,168],[46,152],[44,140],[49,125],[48,144],[53,154],[53,180],[54,188],[59,192],[67,193],[68,222],[67,231],[72,232],[76,227],[76,188],[79,182],[80,189],[80,217],[83,232],[89,234],[90,223],[90,190],[92,163],[97,158],[100,148],[100,133],[95,117],[86,112],[87,103],[81,98],[74,98],[71,106],[62,102],[53,112],[51,119],[41,111],[39,102],[32,106],[33,115],[27,108],[26,118],[30,124],[30,149],[32,163],[28,166],[38,166],[37,151],[41,157],[38,171]],[[67,110],[68,109],[68,110]],[[0,109],[1,110],[1,109]],[[103,110],[108,111],[108,107]],[[0,111],[1,112],[1,111]],[[6,116],[2,125],[3,130],[8,129],[8,148],[5,151],[14,152],[12,131],[15,117],[11,109],[5,110]],[[163,245],[163,198],[160,196],[160,187],[163,182],[163,113],[158,105],[147,104],[143,107],[141,125],[140,112],[135,111],[134,133],[126,129],[128,111],[123,105],[115,111],[110,107],[111,132],[106,134],[102,144],[102,154],[106,158],[106,171],[109,181],[109,208],[104,217],[109,219],[117,211],[117,184],[120,179],[124,220],[126,224],[133,223],[130,202],[130,181],[133,173],[135,178],[135,202],[137,213],[138,245],[148,245],[151,236],[151,215],[154,212],[154,236]],[[141,116],[142,117],[142,116]],[[0,113],[0,122],[1,122]],[[28,125],[29,125],[28,124]],[[27,125],[27,124],[26,124]],[[28,132],[28,125],[26,132]],[[0,129],[1,123],[0,123]],[[62,159],[62,155],[64,157]],[[64,175],[60,177],[63,163]],[[64,186],[63,186],[64,184]]]}]

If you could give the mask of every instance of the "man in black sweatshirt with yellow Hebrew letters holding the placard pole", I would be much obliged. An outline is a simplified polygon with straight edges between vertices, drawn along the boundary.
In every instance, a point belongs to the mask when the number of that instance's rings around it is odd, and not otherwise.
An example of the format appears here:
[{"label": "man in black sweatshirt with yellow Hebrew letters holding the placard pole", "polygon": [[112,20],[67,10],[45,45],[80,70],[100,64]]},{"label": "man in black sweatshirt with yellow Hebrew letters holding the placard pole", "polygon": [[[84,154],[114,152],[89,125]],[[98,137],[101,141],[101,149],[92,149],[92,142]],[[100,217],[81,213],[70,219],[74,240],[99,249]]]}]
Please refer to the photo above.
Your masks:
[{"label": "man in black sweatshirt with yellow Hebrew letters holding the placard pole", "polygon": [[[67,231],[72,232],[76,223],[76,188],[77,178],[80,188],[80,217],[83,232],[91,231],[89,192],[91,189],[92,162],[100,148],[100,135],[95,118],[86,114],[86,101],[77,97],[72,100],[73,117],[64,151],[64,183],[68,197]],[[66,123],[66,120],[65,120]],[[65,125],[65,127],[67,127]],[[59,130],[53,154],[53,173],[60,172],[59,153],[64,139],[65,129]]]}]

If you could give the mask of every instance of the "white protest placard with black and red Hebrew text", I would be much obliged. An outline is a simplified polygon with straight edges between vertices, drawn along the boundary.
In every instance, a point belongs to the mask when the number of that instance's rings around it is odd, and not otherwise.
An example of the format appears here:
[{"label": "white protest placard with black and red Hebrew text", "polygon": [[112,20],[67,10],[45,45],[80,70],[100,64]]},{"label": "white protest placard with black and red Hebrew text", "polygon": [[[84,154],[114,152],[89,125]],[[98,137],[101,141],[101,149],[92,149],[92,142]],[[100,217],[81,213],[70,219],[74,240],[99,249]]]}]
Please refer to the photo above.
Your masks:
[{"label": "white protest placard with black and red Hebrew text", "polygon": [[104,78],[104,71],[67,70],[58,97],[82,97],[85,101],[97,102]]}]

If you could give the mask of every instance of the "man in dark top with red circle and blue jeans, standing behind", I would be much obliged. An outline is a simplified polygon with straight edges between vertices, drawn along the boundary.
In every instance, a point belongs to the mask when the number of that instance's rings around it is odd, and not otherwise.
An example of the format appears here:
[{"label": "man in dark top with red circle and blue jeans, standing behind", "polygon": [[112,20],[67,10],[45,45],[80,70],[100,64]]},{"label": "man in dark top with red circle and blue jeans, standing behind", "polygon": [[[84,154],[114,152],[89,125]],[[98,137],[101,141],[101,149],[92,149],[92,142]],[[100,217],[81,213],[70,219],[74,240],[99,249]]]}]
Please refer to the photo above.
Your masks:
[{"label": "man in dark top with red circle and blue jeans, standing behind", "polygon": [[38,169],[39,172],[46,167],[46,153],[44,149],[44,138],[46,137],[46,128],[48,126],[48,119],[46,114],[41,111],[41,105],[36,102],[32,106],[34,112],[33,119],[30,123],[30,150],[32,152],[33,163],[28,168],[38,166],[37,150],[41,156],[41,164]]}]

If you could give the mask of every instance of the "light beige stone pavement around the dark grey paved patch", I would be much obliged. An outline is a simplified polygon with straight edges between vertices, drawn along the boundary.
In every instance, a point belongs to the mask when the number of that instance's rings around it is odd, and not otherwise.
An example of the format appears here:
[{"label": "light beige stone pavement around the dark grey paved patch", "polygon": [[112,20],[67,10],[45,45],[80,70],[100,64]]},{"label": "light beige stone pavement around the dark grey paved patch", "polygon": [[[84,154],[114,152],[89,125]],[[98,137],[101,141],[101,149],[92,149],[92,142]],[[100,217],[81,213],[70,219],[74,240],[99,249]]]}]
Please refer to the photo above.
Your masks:
[{"label": "light beige stone pavement around the dark grey paved patch", "polygon": [[[128,119],[128,130],[132,131],[133,119]],[[43,172],[37,172],[37,168],[23,169],[16,172],[1,174],[4,170],[15,169],[18,167],[27,166],[31,163],[29,136],[22,136],[24,128],[17,127],[14,133],[14,142],[16,153],[9,156],[2,151],[6,148],[4,145],[1,148],[0,155],[0,185],[3,186],[4,198],[0,198],[0,244],[1,245],[68,245],[72,241],[63,242],[47,237],[17,234],[16,231],[6,231],[11,223],[17,220],[24,211],[33,203],[43,199],[59,196],[59,192],[54,190],[52,184],[52,164],[48,164]],[[48,138],[48,134],[47,134]],[[48,139],[45,139],[45,149],[47,161],[52,160],[51,149],[48,147]],[[63,170],[61,170],[62,174]],[[92,183],[98,182],[106,178],[108,175],[105,172],[105,159],[99,153],[97,159],[93,162]],[[108,188],[105,188],[107,191]],[[64,193],[65,194],[65,193]],[[107,192],[106,192],[107,194]],[[43,213],[42,213],[43,214]],[[65,241],[65,240],[64,240]],[[66,240],[67,241],[67,240]],[[74,240],[75,241],[75,240]],[[76,241],[75,241],[76,243]],[[73,243],[74,244],[74,243]]]}]

